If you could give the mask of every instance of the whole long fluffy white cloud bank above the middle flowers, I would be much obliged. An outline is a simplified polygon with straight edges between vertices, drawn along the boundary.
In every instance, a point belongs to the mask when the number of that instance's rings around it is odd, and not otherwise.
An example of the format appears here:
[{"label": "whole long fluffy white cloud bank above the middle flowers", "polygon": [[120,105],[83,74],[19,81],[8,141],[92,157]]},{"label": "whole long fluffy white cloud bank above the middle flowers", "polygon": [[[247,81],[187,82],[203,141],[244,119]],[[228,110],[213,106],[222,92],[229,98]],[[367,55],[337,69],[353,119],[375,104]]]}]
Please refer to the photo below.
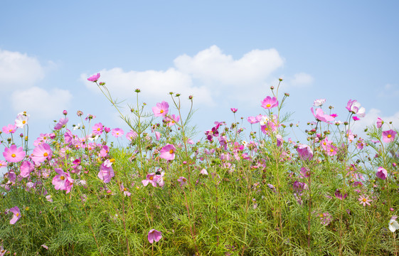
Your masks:
[{"label": "whole long fluffy white cloud bank above the middle flowers", "polygon": [[[100,70],[101,81],[114,97],[126,99],[140,88],[144,98],[164,100],[169,92],[179,92],[183,97],[194,95],[196,103],[215,106],[216,102],[238,100],[253,102],[253,95],[265,92],[270,75],[282,67],[284,60],[275,49],[251,50],[234,60],[217,46],[201,50],[193,57],[180,55],[174,67],[168,70],[124,71],[121,68]],[[97,85],[87,82],[90,75],[81,79],[87,87],[99,91]],[[275,79],[277,81],[277,79]]]}]

